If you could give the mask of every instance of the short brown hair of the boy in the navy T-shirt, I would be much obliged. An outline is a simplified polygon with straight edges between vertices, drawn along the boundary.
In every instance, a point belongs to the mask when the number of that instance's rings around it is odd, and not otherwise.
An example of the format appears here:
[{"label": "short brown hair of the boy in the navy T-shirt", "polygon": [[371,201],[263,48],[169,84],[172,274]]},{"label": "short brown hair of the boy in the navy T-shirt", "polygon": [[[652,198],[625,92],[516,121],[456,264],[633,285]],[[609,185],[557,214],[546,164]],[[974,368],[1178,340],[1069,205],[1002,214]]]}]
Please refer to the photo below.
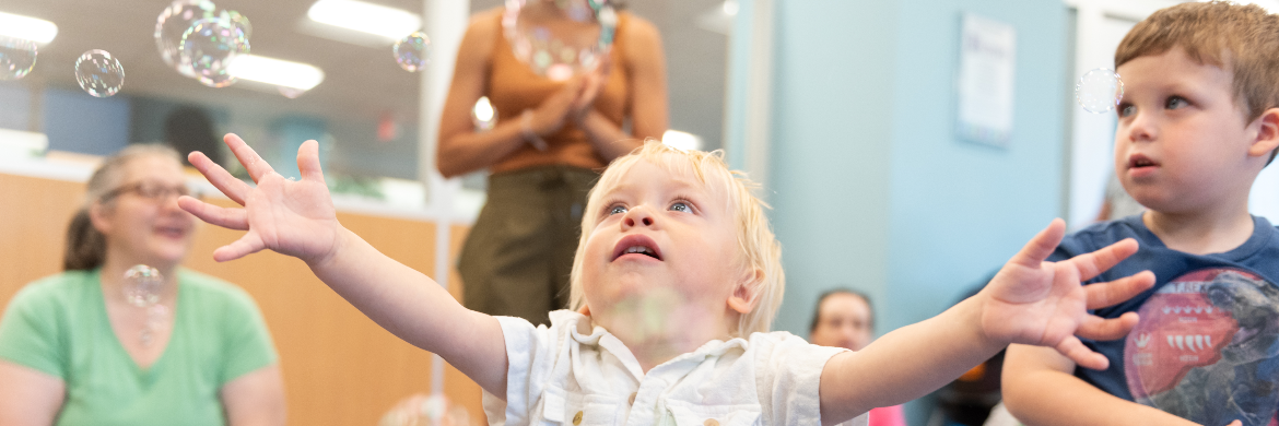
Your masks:
[{"label": "short brown hair of the boy in the navy T-shirt", "polygon": [[1132,27],[1115,49],[1115,68],[1182,47],[1200,64],[1234,74],[1234,99],[1244,123],[1279,106],[1279,15],[1257,5],[1183,3],[1160,9]]}]

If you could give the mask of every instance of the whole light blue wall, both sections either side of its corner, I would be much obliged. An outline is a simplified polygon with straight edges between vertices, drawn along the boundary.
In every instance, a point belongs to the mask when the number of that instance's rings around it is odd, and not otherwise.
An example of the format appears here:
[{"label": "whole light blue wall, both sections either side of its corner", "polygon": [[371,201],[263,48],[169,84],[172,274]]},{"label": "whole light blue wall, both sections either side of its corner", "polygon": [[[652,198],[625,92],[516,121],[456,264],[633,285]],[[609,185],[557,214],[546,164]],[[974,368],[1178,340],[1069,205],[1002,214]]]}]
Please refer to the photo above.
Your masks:
[{"label": "whole light blue wall, both sections either side of its corner", "polygon": [[[1071,52],[1060,1],[775,8],[767,189],[788,285],[775,329],[806,336],[817,294],[836,285],[875,299],[880,333],[931,317],[1063,214]],[[963,13],[1017,29],[1005,148],[954,130]],[[912,423],[927,409],[914,404]]]}]

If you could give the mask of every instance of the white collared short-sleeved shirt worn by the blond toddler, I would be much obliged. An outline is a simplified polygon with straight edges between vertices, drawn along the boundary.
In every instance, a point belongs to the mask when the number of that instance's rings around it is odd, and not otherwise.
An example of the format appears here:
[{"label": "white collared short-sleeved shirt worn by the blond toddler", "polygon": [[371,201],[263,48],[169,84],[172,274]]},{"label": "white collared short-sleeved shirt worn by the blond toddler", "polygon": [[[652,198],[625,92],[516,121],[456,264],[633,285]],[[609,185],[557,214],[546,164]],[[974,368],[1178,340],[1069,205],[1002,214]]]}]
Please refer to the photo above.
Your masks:
[{"label": "white collared short-sleeved shirt worn by the blond toddler", "polygon": [[[586,316],[551,312],[551,326],[498,317],[506,342],[506,402],[485,391],[498,425],[821,425],[817,386],[831,356],[785,331],[711,340],[647,375],[622,340]],[[866,414],[842,425],[866,425]]]}]

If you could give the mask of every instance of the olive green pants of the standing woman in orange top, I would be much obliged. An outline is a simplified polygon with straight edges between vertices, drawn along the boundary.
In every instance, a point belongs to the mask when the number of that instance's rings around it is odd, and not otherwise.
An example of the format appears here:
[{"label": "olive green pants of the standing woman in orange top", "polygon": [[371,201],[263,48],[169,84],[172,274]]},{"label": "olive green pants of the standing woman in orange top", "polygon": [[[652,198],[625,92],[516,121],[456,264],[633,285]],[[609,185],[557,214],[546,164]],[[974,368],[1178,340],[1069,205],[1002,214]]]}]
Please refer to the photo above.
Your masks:
[{"label": "olive green pants of the standing woman in orange top", "polygon": [[458,258],[467,308],[533,325],[568,307],[586,196],[600,175],[540,166],[489,177],[489,201]]}]

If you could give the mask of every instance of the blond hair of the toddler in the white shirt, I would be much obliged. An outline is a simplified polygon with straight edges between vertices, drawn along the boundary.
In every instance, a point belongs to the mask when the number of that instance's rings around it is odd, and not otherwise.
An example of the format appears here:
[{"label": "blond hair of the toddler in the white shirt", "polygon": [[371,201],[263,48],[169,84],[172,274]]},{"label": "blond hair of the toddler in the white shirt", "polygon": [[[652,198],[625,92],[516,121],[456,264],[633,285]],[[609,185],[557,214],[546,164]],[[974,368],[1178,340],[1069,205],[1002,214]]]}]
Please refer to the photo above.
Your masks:
[{"label": "blond hair of the toddler in the white shirt", "polygon": [[[643,146],[628,155],[618,157],[609,164],[608,170],[600,175],[600,180],[591,189],[586,203],[588,214],[582,215],[582,237],[577,244],[577,255],[573,257],[573,270],[569,278],[570,308],[579,310],[586,304],[582,290],[582,261],[585,258],[586,241],[591,230],[599,224],[599,215],[590,212],[604,209],[602,196],[615,188],[622,177],[640,161],[666,169],[671,174],[691,174],[698,183],[723,189],[724,205],[732,212],[733,223],[737,225],[737,242],[741,252],[741,266],[758,271],[760,279],[747,285],[753,285],[755,307],[751,312],[742,315],[734,330],[734,336],[747,336],[756,331],[769,331],[773,317],[781,306],[781,294],[785,290],[785,275],[781,271],[781,244],[773,235],[769,219],[764,214],[767,207],[751,192],[758,185],[751,182],[746,174],[728,169],[724,162],[724,151],[684,151],[669,147],[656,141],[646,141]],[[714,193],[714,192],[712,192]]]}]

